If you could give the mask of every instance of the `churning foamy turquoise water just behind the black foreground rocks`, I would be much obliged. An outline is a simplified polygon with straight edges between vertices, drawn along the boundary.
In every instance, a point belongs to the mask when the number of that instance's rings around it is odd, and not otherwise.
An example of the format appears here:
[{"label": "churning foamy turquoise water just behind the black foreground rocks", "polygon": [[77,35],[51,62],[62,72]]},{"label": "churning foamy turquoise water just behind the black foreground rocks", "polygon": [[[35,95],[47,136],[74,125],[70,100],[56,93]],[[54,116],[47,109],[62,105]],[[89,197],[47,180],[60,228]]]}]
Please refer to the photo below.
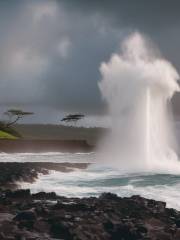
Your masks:
[{"label": "churning foamy turquoise water just behind the black foreground rocks", "polygon": [[[172,178],[172,179],[171,179]],[[173,180],[175,178],[175,180]],[[167,207],[180,210],[180,176],[152,174],[124,174],[117,169],[101,169],[94,165],[87,170],[69,173],[51,171],[49,175],[40,175],[33,183],[22,184],[33,193],[55,191],[67,197],[98,196],[103,192],[116,193],[121,197],[141,195],[146,198],[167,202]]]}]

